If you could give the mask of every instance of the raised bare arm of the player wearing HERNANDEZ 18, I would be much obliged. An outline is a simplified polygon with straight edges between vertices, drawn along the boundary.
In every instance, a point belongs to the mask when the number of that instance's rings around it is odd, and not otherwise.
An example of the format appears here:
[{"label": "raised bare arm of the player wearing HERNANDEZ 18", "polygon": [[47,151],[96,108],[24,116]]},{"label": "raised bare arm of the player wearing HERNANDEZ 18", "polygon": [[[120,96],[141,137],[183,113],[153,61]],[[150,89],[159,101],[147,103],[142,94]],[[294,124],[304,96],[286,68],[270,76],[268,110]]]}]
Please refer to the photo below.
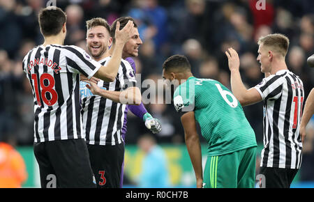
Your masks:
[{"label": "raised bare arm of the player wearing HERNANDEZ 18", "polygon": [[114,51],[112,53],[112,58],[107,63],[106,66],[102,66],[99,70],[95,73],[94,77],[98,79],[102,79],[103,81],[112,82],[114,81],[115,77],[117,77],[117,73],[119,70],[119,66],[121,63],[122,57],[122,50],[124,48],[124,44],[128,42],[131,37],[131,31],[134,24],[132,21],[128,21],[128,24],[124,26],[124,29],[120,29],[120,23],[117,22],[116,28],[116,43],[114,46]]}]

